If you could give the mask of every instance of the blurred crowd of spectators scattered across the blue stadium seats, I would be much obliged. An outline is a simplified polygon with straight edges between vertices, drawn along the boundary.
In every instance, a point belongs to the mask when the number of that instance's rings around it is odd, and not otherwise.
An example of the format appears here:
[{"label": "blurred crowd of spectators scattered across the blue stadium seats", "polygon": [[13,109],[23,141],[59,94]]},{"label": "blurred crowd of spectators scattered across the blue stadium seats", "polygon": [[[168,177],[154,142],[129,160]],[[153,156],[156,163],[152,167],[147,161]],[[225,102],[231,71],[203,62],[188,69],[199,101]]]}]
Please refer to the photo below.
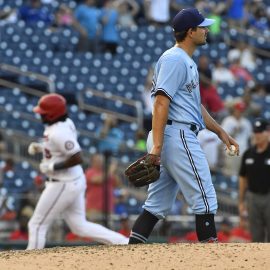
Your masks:
[{"label": "blurred crowd of spectators scattered across the blue stadium seats", "polygon": [[[0,1],[1,2],[1,1]],[[5,3],[6,2],[6,3]],[[2,1],[7,4],[8,1]],[[15,2],[15,1],[14,1]],[[56,4],[55,4],[56,3]],[[2,5],[5,7],[5,5]],[[111,1],[25,1],[20,7],[6,6],[0,11],[0,27],[23,20],[26,25],[35,25],[42,21],[53,32],[72,28],[78,33],[79,42],[76,52],[107,53],[112,57],[118,54],[121,41],[120,30],[132,29],[140,26],[153,26],[155,29],[170,25],[170,18],[179,9],[186,6],[196,6],[208,17],[214,18],[216,24],[211,26],[209,43],[226,42],[228,33],[224,33],[224,23],[227,32],[236,29],[239,38],[234,37],[230,50],[225,57],[211,57],[200,53],[198,70],[200,73],[200,91],[202,103],[221,123],[222,127],[233,136],[240,145],[241,155],[252,143],[252,123],[258,116],[263,115],[265,107],[262,100],[270,95],[270,81],[258,81],[255,76],[258,66],[267,60],[266,54],[260,54],[254,44],[241,39],[242,32],[255,33],[270,39],[270,8],[268,1],[185,1],[185,0],[111,0]],[[239,31],[239,32],[238,32]],[[241,35],[240,35],[241,34]],[[268,40],[269,41],[269,40]],[[165,42],[161,40],[160,42]],[[268,42],[269,43],[269,42]],[[261,46],[265,52],[270,47],[265,43]],[[218,54],[219,52],[217,52]],[[144,91],[140,93],[140,100],[144,109],[144,126],[135,131],[136,142],[134,147],[144,153],[146,151],[146,135],[151,129],[152,104],[150,89],[153,75],[153,64],[148,66],[145,75]],[[268,71],[269,72],[269,71]],[[221,89],[235,85],[242,89],[237,98],[224,99]],[[1,94],[0,94],[1,95]],[[270,115],[268,115],[270,119]],[[109,213],[118,214],[120,219],[119,231],[129,234],[130,203],[140,210],[137,202],[128,202],[130,194],[126,189],[120,166],[117,160],[111,159],[108,170],[108,179],[104,178],[104,153],[117,153],[123,149],[124,134],[118,125],[118,120],[112,115],[104,117],[104,123],[95,130],[100,138],[97,145],[98,152],[91,156],[90,163],[85,168],[88,189],[86,192],[86,209],[89,219],[101,220],[104,214],[104,181],[108,184],[108,198],[106,199]],[[224,154],[223,145],[213,133],[205,130],[199,134],[199,140],[204,149],[211,172],[220,172],[228,177],[237,177],[240,167],[240,158],[232,159]],[[5,151],[5,144],[0,135],[0,152]],[[29,200],[16,208],[14,198],[5,193],[3,177],[12,170],[12,159],[2,162],[0,175],[0,220],[16,220],[18,227],[10,235],[10,240],[26,240],[26,224],[35,205],[35,200]],[[45,179],[36,174],[33,178],[32,189],[40,192]],[[133,194],[134,195],[134,194]],[[134,196],[139,201],[139,196]],[[134,198],[132,200],[135,200]],[[129,205],[128,205],[129,204]],[[19,210],[18,210],[19,209]],[[136,212],[135,212],[136,213]],[[180,203],[175,205],[173,214],[188,213],[188,209]],[[250,241],[246,224],[232,229],[232,224],[225,220],[220,228],[220,239],[223,242]],[[66,240],[78,240],[76,236],[67,233]],[[79,239],[82,240],[82,239]],[[88,241],[89,239],[87,239]],[[170,242],[196,242],[194,233],[181,238],[171,238]]]}]

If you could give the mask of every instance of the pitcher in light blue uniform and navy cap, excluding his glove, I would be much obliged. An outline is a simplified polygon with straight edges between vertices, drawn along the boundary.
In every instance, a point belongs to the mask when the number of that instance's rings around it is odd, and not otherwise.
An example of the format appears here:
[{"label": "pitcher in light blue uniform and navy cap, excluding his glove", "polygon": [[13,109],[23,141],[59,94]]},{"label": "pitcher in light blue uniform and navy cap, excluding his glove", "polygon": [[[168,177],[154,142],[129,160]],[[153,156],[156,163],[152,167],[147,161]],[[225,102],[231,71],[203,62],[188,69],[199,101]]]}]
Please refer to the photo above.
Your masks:
[{"label": "pitcher in light blue uniform and navy cap, excluding his glove", "polygon": [[239,146],[201,105],[199,74],[192,55],[198,46],[206,44],[207,27],[213,23],[195,8],[181,10],[173,19],[176,44],[163,53],[155,66],[152,131],[147,139],[151,158],[146,160],[153,164],[160,160],[160,177],[149,185],[130,244],[147,241],[158,220],[169,213],[179,191],[195,214],[198,240],[217,242],[217,198],[197,134],[206,127],[227,147],[234,145],[236,154]]}]

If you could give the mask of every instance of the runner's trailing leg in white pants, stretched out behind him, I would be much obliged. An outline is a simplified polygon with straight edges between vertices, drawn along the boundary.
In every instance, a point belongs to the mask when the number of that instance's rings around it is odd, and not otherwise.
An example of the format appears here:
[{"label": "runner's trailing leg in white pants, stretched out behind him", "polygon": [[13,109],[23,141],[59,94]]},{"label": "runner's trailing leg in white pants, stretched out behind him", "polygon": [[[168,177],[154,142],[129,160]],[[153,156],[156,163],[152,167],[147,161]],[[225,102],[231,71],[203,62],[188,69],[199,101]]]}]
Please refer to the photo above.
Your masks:
[{"label": "runner's trailing leg in white pants, stretched out behind him", "polygon": [[85,215],[85,180],[73,187],[78,195],[72,204],[65,210],[64,219],[73,233],[81,237],[89,237],[103,244],[127,244],[128,238],[120,233],[109,230],[99,224],[89,222]]}]

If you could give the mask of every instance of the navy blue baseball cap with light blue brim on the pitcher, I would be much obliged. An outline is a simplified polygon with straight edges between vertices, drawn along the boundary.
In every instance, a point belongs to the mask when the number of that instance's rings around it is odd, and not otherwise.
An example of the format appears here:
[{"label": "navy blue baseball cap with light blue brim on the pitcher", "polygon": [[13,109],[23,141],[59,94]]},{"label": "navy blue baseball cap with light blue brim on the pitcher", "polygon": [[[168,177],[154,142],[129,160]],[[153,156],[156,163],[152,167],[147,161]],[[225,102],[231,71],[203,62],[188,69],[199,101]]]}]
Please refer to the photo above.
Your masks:
[{"label": "navy blue baseball cap with light blue brim on the pitcher", "polygon": [[207,27],[215,22],[213,19],[204,18],[196,8],[185,8],[173,18],[172,27],[175,32],[183,32],[189,28]]}]

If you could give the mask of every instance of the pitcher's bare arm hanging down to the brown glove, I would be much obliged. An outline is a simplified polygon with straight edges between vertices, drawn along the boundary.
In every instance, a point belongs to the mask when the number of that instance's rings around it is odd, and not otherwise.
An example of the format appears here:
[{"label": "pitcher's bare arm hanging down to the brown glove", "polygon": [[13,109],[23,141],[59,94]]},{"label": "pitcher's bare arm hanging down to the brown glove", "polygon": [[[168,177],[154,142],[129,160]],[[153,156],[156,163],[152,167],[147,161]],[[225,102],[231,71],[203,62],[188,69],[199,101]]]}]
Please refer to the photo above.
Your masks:
[{"label": "pitcher's bare arm hanging down to the brown glove", "polygon": [[153,107],[153,147],[150,151],[150,154],[160,156],[163,145],[164,128],[168,120],[169,104],[169,98],[166,95],[162,94],[161,91],[158,92]]}]

